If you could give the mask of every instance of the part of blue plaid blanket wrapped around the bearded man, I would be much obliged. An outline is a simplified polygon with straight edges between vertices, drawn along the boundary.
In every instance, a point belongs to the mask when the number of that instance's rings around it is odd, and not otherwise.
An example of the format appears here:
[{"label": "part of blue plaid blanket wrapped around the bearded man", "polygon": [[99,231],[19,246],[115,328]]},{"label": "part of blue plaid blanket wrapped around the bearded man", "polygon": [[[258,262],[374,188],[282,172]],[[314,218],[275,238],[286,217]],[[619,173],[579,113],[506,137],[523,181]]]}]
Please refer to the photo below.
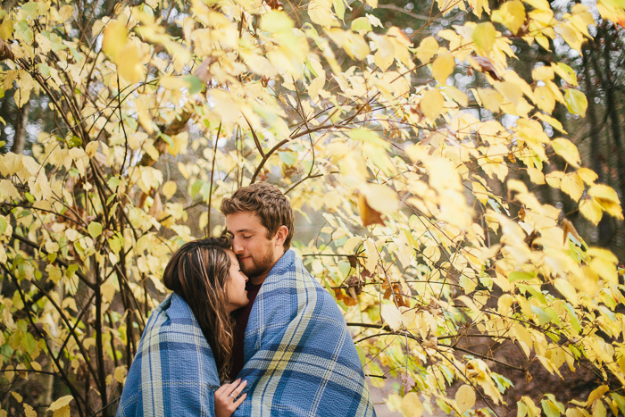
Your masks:
[{"label": "part of blue plaid blanket wrapped around the bearded man", "polygon": [[293,251],[256,296],[244,353],[247,398],[235,416],[375,415],[345,319]]}]

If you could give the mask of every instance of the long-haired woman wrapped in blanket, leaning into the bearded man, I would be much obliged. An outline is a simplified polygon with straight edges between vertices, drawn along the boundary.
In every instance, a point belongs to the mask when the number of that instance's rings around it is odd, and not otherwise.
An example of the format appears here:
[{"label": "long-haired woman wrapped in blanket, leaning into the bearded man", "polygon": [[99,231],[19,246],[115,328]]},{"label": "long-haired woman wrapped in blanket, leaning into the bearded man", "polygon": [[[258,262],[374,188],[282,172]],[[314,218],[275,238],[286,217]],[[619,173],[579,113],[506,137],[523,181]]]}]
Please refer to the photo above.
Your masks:
[{"label": "long-haired woman wrapped in blanket, leaning into the bearded man", "polygon": [[[152,313],[117,415],[229,417],[246,398],[231,379],[231,313],[248,303],[247,278],[228,237],[188,242],[162,276],[168,296]],[[223,383],[220,387],[220,383]]]}]

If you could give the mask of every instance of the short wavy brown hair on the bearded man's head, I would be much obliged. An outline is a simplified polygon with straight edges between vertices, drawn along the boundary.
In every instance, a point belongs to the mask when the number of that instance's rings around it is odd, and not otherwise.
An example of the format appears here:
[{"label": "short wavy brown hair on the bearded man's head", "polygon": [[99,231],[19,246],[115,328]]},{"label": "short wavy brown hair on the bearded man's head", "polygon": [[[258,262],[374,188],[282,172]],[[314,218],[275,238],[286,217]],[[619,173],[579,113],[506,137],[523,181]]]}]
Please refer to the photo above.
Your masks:
[{"label": "short wavy brown hair on the bearded man's head", "polygon": [[262,226],[267,229],[267,238],[276,236],[280,226],[287,226],[284,250],[287,251],[291,246],[294,231],[293,209],[278,187],[257,182],[238,188],[231,197],[221,200],[220,210],[225,216],[241,212],[256,214],[261,219]]}]

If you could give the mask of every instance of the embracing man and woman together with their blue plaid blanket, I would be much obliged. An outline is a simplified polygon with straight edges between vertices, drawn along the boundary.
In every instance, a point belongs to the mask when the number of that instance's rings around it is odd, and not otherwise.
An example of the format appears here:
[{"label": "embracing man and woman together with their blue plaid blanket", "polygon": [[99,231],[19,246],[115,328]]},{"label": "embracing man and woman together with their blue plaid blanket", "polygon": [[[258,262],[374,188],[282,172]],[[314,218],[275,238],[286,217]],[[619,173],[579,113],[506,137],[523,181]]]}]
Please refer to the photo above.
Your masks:
[{"label": "embracing man and woman together with their blue plaid blanket", "polygon": [[289,250],[287,198],[253,184],[221,212],[228,237],[167,264],[173,293],[147,322],[117,415],[374,416],[343,315]]}]

